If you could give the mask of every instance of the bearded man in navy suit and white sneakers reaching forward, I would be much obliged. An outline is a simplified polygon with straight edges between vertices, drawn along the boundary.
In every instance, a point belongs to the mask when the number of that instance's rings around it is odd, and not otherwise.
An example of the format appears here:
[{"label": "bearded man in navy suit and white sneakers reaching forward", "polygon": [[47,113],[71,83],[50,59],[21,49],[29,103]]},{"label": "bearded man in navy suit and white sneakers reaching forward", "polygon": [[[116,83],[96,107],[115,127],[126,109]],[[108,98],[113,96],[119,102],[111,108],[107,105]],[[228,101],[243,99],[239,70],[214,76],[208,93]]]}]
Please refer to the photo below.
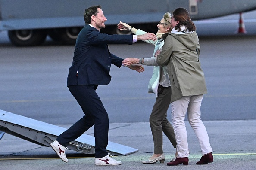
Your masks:
[{"label": "bearded man in navy suit and white sneakers reaching forward", "polygon": [[[107,85],[111,64],[122,66],[122,58],[109,52],[107,44],[132,44],[137,40],[156,40],[156,35],[108,35],[100,33],[105,27],[106,17],[101,6],[91,6],[85,10],[85,27],[78,34],[75,44],[73,62],[69,68],[67,78],[68,88],[81,106],[84,117],[72,125],[68,130],[50,145],[57,155],[68,162],[65,151],[67,143],[77,139],[94,125],[95,137],[95,164],[119,165],[120,161],[109,157],[106,147],[108,144],[109,118],[108,114],[96,93],[98,85]],[[129,67],[143,72],[141,65]]]}]

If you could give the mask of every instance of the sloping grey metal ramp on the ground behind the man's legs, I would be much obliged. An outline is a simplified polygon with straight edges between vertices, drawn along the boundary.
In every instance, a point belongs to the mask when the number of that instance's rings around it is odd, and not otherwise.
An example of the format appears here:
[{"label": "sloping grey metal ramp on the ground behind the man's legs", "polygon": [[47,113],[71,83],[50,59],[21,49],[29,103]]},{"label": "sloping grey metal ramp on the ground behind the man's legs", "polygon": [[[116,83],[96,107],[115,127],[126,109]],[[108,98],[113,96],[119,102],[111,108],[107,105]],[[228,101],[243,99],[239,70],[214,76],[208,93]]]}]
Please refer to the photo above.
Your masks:
[{"label": "sloping grey metal ramp on the ground behind the man's legs", "polygon": [[[0,110],[0,134],[2,137],[4,133],[7,133],[41,146],[50,147],[50,143],[64,131],[66,128]],[[94,154],[95,138],[82,134],[76,140],[69,142],[67,147],[84,154]],[[138,149],[110,141],[106,150],[113,156],[125,156],[138,152]]]}]

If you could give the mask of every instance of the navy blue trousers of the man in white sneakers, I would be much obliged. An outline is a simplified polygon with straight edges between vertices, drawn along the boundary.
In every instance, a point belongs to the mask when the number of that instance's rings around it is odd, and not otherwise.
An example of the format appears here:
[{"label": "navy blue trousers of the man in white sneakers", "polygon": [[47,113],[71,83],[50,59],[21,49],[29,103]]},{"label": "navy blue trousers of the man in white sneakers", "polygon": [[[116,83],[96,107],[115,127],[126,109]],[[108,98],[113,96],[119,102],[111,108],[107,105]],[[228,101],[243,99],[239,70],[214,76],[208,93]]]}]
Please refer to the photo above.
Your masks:
[{"label": "navy blue trousers of the man in white sneakers", "polygon": [[84,117],[73,124],[56,139],[61,145],[73,141],[94,125],[95,158],[108,155],[109,117],[100,97],[96,93],[97,85],[72,85],[69,91],[81,106]]}]

